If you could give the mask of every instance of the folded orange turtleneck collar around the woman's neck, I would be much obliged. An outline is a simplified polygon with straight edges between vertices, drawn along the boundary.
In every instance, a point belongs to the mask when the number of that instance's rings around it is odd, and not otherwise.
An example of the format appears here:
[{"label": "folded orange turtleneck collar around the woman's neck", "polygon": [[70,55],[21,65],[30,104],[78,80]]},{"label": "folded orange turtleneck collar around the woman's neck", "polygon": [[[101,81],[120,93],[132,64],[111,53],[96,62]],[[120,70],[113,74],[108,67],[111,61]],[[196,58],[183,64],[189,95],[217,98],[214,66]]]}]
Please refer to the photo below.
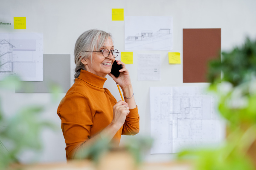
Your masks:
[{"label": "folded orange turtleneck collar around the woman's neck", "polygon": [[101,89],[103,89],[103,85],[107,80],[107,78],[99,77],[98,75],[83,69],[81,69],[78,79],[81,79],[82,81],[85,81],[86,83]]}]

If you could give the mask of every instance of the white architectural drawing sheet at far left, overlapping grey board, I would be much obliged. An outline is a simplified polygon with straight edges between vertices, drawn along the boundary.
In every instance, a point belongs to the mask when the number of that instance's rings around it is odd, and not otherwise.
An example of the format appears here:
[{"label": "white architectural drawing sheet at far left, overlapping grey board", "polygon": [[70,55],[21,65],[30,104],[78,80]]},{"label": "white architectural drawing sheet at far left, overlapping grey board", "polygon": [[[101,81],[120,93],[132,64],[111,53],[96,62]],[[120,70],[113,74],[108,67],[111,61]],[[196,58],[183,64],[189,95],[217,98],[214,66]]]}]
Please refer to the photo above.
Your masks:
[{"label": "white architectural drawing sheet at far left, overlapping grey board", "polygon": [[0,33],[0,80],[43,81],[43,34]]}]

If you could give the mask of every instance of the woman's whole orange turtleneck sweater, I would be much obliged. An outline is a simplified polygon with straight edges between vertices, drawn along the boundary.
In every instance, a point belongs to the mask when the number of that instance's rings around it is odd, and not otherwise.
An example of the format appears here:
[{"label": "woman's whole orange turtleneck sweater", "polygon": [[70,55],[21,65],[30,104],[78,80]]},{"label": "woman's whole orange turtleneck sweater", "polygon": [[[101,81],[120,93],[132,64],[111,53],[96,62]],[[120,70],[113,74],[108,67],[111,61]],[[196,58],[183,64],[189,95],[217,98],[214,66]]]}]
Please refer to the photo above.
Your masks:
[{"label": "woman's whole orange turtleneck sweater", "polygon": [[[88,139],[100,133],[113,119],[116,99],[103,88],[107,79],[81,70],[73,86],[58,106],[61,129],[66,142],[67,159],[72,159]],[[140,116],[137,107],[130,109],[124,125],[113,140],[119,144],[121,135],[135,135],[140,130]]]}]

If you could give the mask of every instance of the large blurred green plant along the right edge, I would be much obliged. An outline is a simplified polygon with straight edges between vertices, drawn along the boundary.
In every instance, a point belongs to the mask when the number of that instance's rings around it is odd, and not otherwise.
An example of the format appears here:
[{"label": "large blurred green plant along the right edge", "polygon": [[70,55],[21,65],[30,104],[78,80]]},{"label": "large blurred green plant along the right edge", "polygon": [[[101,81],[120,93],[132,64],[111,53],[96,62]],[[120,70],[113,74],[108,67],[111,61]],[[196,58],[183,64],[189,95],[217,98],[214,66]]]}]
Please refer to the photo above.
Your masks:
[{"label": "large blurred green plant along the right edge", "polygon": [[[184,150],[197,170],[253,170],[256,168],[256,41],[222,52],[209,63],[209,90],[218,97],[218,110],[227,123],[221,147]],[[221,74],[220,74],[221,72]]]}]

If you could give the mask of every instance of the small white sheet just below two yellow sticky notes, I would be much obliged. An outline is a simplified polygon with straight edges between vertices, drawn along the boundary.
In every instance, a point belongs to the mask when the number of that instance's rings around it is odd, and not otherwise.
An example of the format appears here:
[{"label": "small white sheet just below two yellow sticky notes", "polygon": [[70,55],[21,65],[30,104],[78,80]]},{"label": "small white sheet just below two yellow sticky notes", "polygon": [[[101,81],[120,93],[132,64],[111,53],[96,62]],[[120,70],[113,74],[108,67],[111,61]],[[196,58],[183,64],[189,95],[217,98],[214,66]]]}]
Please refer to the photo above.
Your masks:
[{"label": "small white sheet just below two yellow sticky notes", "polygon": [[161,54],[139,54],[138,66],[138,81],[161,80]]}]

